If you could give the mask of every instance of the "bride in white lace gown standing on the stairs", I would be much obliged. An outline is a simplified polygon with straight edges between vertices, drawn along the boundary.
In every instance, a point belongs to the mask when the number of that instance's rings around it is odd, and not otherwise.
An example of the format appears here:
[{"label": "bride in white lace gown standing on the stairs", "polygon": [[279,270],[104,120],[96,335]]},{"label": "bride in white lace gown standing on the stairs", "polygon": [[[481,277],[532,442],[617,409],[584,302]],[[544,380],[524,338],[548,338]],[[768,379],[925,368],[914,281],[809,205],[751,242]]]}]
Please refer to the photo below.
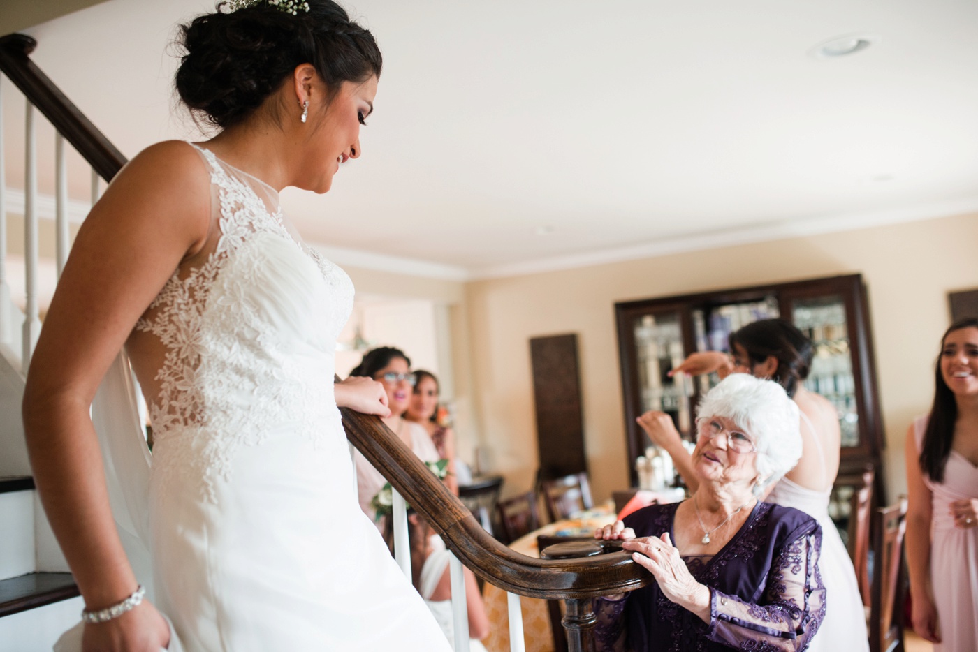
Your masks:
[{"label": "bride in white lace gown standing on the stairs", "polygon": [[[447,650],[353,490],[337,406],[388,410],[374,380],[333,384],[352,284],[279,204],[289,186],[326,193],[361,155],[374,37],[331,0],[237,0],[182,45],[177,91],[219,133],[157,144],[115,177],[24,393],[37,488],[85,601],[80,645]],[[89,415],[104,376],[126,386],[126,354],[155,435],[142,480],[138,463],[104,464]],[[116,529],[107,478],[151,569]]]}]

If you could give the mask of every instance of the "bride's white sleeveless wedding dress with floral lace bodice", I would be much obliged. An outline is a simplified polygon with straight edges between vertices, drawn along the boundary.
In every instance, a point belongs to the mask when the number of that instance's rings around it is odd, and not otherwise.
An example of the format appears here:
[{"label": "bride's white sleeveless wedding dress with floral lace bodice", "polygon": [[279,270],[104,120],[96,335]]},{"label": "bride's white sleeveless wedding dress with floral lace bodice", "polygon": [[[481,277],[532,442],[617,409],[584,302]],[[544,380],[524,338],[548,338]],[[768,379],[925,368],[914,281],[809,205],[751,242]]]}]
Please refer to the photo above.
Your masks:
[{"label": "bride's white sleeveless wedding dress with floral lace bodice", "polygon": [[[187,652],[447,651],[357,502],[333,400],[352,283],[287,229],[273,189],[198,152],[219,233],[134,334],[158,338],[162,365],[140,378],[155,438],[148,519],[113,504],[133,517],[120,519],[127,548],[147,544],[156,606]],[[110,375],[125,385],[124,371],[123,359]],[[144,491],[127,446],[109,447],[123,497]]]}]

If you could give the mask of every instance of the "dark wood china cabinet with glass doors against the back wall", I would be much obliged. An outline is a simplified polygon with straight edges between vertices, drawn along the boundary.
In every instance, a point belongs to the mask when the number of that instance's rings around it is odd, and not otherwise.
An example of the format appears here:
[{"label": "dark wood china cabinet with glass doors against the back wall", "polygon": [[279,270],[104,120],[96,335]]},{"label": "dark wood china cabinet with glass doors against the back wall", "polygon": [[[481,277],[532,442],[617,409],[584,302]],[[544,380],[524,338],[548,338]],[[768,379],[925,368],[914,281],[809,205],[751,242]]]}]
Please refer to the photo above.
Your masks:
[{"label": "dark wood china cabinet with glass doors against the back wall", "polygon": [[[840,476],[859,476],[867,463],[881,479],[883,447],[866,285],[860,275],[737,287],[683,296],[615,304],[618,350],[625,402],[625,432],[632,484],[635,462],[649,446],[635,422],[648,410],[672,415],[691,438],[699,398],[716,384],[716,374],[670,378],[667,373],[694,351],[728,351],[731,332],[762,319],[783,317],[815,345],[805,386],[818,392],[839,414],[842,429]],[[830,509],[848,515],[842,488]],[[877,480],[876,497],[884,498]]]}]

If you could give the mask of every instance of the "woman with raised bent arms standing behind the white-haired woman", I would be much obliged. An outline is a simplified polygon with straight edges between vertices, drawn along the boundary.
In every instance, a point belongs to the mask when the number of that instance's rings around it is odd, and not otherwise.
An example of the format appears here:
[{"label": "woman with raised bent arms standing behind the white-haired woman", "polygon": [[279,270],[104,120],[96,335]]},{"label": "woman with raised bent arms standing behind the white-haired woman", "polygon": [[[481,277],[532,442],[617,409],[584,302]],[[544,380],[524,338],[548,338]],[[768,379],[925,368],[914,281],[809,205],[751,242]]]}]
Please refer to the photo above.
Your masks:
[{"label": "woman with raised bent arms standing behind the white-haired woman", "polygon": [[[768,502],[801,509],[822,525],[822,581],[827,594],[822,634],[811,650],[867,652],[863,598],[856,571],[845,543],[828,516],[828,500],[839,470],[841,433],[838,414],[822,396],[805,389],[803,383],[812,364],[812,343],[785,320],[762,320],[731,333],[728,356],[719,351],[694,353],[672,373],[698,375],[718,371],[726,377],[733,371],[776,380],[800,413],[803,454],[780,481],[769,488]],[[639,424],[649,438],[664,448],[690,488],[698,480],[691,473],[691,458],[682,438],[664,413],[645,413]]]}]

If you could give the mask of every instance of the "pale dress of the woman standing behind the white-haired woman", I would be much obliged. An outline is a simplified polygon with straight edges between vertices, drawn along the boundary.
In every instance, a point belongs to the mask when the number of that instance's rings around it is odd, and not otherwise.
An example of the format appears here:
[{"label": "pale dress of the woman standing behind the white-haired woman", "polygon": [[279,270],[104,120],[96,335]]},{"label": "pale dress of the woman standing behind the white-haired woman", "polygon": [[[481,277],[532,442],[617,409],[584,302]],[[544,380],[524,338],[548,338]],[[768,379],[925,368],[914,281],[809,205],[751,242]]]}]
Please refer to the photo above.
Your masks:
[{"label": "pale dress of the woman standing behind the white-haired woman", "polygon": [[[822,469],[825,468],[825,456],[822,442],[815,434],[815,426],[807,414],[801,413],[803,427],[809,429],[810,437],[806,442],[813,442],[816,451],[806,451],[807,455],[816,454],[822,459]],[[827,479],[823,484],[828,484]],[[812,639],[809,652],[868,652],[866,612],[863,599],[860,596],[856,571],[846,550],[845,543],[839,536],[839,531],[828,516],[828,499],[831,487],[825,491],[815,491],[792,482],[787,477],[778,480],[766,502],[774,502],[784,507],[800,509],[814,517],[822,526],[822,554],[819,558],[819,570],[822,573],[822,585],[825,587],[825,618],[819,633]]]}]

